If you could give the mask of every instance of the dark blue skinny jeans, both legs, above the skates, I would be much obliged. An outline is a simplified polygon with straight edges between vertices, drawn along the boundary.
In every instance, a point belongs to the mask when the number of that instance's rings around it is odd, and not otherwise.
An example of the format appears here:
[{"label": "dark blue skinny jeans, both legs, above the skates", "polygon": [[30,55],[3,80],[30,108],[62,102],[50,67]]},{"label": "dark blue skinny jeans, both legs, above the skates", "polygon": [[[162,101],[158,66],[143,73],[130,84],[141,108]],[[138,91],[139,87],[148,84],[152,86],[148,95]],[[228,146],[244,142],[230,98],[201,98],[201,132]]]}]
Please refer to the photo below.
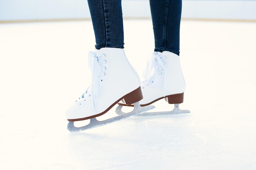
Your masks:
[{"label": "dark blue skinny jeans, both legs, above the skates", "polygon": [[[121,0],[88,0],[96,49],[124,48]],[[155,51],[180,54],[182,0],[150,0]]]}]

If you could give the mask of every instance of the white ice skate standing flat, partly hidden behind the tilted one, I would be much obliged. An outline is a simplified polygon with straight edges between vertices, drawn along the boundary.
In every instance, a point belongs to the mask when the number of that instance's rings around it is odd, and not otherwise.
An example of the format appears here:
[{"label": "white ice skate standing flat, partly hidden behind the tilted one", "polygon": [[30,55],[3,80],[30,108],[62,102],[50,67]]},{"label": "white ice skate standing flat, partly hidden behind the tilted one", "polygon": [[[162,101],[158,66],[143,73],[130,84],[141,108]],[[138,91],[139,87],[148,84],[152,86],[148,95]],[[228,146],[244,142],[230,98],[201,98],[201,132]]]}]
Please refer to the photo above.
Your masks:
[{"label": "white ice skate standing flat, partly hidden behind the tilted one", "polygon": [[[138,116],[159,116],[180,113],[190,113],[189,110],[181,110],[179,104],[183,102],[185,81],[180,67],[180,57],[172,52],[154,52],[149,58],[144,71],[145,81],[141,83],[143,99],[141,106],[148,106],[157,100],[165,98],[169,104],[174,104],[172,111],[146,112]],[[124,100],[118,103],[116,113],[124,114],[123,106],[133,106]]]}]

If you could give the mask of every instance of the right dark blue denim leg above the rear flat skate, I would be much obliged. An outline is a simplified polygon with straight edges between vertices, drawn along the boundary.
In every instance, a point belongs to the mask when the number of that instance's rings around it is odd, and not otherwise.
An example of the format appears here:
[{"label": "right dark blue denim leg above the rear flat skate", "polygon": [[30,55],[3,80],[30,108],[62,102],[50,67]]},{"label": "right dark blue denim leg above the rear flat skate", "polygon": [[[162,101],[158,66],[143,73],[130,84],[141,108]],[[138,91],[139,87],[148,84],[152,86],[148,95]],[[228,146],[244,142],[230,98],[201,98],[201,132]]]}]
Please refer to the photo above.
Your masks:
[{"label": "right dark blue denim leg above the rear flat skate", "polygon": [[182,0],[150,0],[155,51],[180,54]]}]

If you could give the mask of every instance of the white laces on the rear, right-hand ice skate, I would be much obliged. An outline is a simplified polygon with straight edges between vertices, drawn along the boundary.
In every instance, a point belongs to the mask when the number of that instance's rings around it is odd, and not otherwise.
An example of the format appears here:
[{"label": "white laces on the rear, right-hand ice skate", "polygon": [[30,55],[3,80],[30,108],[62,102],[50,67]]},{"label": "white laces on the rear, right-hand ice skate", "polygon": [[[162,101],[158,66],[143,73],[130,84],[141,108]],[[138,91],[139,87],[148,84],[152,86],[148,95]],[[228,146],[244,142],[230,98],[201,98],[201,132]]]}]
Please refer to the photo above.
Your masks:
[{"label": "white laces on the rear, right-hand ice skate", "polygon": [[159,80],[159,75],[164,74],[164,96],[166,94],[166,74],[165,74],[165,61],[162,59],[166,56],[161,56],[157,52],[153,52],[148,56],[146,69],[143,73],[144,81],[141,84],[151,85]]}]

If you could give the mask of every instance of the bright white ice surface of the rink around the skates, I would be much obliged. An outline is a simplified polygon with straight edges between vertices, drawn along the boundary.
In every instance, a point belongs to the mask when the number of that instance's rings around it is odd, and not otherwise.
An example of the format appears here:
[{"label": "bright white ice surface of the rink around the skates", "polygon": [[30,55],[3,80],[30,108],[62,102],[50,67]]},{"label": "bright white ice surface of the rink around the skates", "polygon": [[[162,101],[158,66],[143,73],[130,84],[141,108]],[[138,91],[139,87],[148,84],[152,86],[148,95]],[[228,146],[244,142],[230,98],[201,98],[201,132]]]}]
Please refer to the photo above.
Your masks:
[{"label": "bright white ice surface of the rink around the skates", "polygon": [[[124,31],[142,75],[151,20],[124,20]],[[90,85],[94,44],[90,20],[0,24],[2,170],[256,170],[256,23],[182,20],[180,108],[191,113],[70,133],[64,113]]]}]

